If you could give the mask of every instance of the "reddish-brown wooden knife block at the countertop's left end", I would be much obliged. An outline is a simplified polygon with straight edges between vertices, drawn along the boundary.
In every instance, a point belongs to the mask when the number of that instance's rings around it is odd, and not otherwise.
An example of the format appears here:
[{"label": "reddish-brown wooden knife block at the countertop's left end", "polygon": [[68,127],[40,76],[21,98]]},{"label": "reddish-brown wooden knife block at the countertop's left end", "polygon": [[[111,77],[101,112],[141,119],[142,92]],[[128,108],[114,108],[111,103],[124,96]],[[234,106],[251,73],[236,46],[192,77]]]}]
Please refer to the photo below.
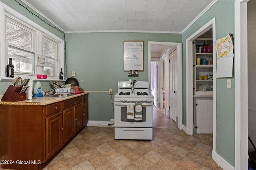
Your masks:
[{"label": "reddish-brown wooden knife block at the countertop's left end", "polygon": [[4,96],[2,97],[2,102],[18,102],[22,100],[26,100],[26,93],[20,93],[21,90],[20,85],[10,85],[6,90]]}]

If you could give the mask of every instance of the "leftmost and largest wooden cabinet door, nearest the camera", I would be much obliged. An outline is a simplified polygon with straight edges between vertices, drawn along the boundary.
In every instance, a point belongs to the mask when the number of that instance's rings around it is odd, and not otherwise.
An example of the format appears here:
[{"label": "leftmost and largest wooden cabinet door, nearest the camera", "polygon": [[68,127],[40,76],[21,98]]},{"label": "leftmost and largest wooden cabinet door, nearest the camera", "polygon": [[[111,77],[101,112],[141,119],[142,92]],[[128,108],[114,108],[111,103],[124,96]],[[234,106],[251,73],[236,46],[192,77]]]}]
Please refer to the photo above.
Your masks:
[{"label": "leftmost and largest wooden cabinet door, nearest the camera", "polygon": [[62,114],[46,118],[46,159],[62,147]]}]

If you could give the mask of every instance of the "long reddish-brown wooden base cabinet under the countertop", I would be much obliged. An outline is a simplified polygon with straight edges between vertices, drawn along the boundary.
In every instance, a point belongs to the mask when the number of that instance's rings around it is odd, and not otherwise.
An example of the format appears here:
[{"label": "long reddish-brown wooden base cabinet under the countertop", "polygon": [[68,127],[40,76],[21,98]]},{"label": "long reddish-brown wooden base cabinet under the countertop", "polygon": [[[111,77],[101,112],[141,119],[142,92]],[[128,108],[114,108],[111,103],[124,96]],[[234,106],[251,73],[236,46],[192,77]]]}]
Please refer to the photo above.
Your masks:
[{"label": "long reddish-brown wooden base cabinet under the countertop", "polygon": [[0,159],[15,162],[1,168],[42,169],[85,127],[87,98],[85,94],[46,106],[0,104]]}]

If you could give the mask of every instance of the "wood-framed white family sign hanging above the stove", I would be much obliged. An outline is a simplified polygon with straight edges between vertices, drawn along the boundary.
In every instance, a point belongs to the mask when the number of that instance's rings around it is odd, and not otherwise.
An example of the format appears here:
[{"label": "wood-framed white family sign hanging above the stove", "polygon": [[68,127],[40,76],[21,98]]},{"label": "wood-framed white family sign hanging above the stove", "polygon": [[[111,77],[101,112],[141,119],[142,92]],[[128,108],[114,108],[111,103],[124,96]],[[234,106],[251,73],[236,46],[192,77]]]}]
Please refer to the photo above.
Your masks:
[{"label": "wood-framed white family sign hanging above the stove", "polygon": [[124,71],[144,71],[144,41],[124,41]]}]

